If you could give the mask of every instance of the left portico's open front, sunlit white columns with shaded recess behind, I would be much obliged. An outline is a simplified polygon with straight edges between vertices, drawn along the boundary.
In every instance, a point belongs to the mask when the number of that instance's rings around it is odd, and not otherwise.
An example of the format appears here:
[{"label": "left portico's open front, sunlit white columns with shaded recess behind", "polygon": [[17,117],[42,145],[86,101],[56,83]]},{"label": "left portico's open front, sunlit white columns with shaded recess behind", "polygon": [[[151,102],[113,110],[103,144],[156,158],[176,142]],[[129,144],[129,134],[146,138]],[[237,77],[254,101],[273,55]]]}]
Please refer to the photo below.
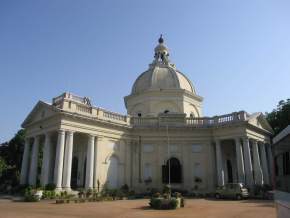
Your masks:
[{"label": "left portico's open front, sunlit white columns with shaded recess behind", "polygon": [[[85,144],[79,144],[80,141]],[[27,137],[22,160],[21,184],[35,186],[39,182],[40,185],[45,186],[54,183],[57,190],[70,191],[74,156],[82,163],[77,165],[78,173],[75,178],[77,186],[94,188],[94,173],[97,172],[94,169],[97,156],[94,149],[97,141],[95,135],[63,129]],[[83,158],[84,152],[86,155]],[[40,163],[41,172],[39,172],[38,163],[41,153],[43,158]]]}]

